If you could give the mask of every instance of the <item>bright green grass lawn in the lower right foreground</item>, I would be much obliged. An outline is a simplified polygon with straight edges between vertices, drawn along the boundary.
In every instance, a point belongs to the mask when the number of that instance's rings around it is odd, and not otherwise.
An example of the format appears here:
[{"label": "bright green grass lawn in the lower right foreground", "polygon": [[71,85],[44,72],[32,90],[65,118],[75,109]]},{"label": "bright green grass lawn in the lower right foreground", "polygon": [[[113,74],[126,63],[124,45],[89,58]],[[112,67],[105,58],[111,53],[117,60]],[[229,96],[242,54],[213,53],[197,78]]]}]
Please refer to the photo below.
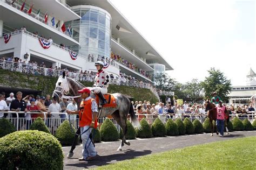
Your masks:
[{"label": "bright green grass lawn in the lower right foreground", "polygon": [[180,148],[99,169],[256,169],[256,137]]}]

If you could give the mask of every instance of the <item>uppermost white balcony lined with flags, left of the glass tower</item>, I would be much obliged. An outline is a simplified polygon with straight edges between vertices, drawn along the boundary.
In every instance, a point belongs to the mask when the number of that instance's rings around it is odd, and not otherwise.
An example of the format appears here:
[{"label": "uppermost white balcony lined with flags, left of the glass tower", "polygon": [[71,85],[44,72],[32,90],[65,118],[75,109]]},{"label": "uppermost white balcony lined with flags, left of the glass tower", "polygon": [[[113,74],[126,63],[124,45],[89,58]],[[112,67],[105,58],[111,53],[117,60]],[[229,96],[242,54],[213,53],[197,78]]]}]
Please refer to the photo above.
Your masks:
[{"label": "uppermost white balcony lined with flags, left of the glass tower", "polygon": [[[28,10],[30,8],[30,5],[26,4],[24,6],[24,10],[21,11],[20,9],[21,9],[22,3],[23,3],[22,1],[15,1],[14,4],[11,4],[12,3],[11,0],[5,0],[4,2],[0,1],[0,16],[1,16],[1,20],[3,20],[5,26],[15,29],[15,28],[20,28],[23,25],[25,25],[27,27],[27,29],[29,28],[29,30],[31,32],[36,32],[36,31],[40,30],[40,32],[42,34],[52,37],[52,39],[58,39],[59,41],[63,42],[65,45],[78,45],[79,44],[79,42],[77,42],[76,40],[71,38],[67,32],[62,32],[62,30],[60,29],[60,27],[62,25],[59,24],[59,26],[57,28],[56,28],[56,25],[52,26],[50,17],[48,18],[48,22],[45,23],[44,22],[45,13],[43,13],[42,10],[40,11],[40,15],[37,16],[38,10],[33,8],[31,14],[28,15]],[[28,2],[28,1],[26,1],[26,2]],[[38,5],[39,2],[42,2],[42,1],[37,1],[35,3],[37,3],[37,5]],[[58,6],[63,6],[63,4],[60,4],[59,2],[56,2],[56,3],[58,3]],[[40,7],[40,5],[38,5],[38,6]],[[48,4],[48,6],[51,6],[51,5]],[[55,6],[57,6],[57,4],[55,4]],[[66,7],[64,6],[63,8],[66,8]],[[71,11],[68,8],[66,8],[66,10]],[[50,12],[48,11],[48,13],[50,13]],[[63,14],[63,16],[65,16],[65,15]],[[63,17],[58,18],[57,16],[55,16],[55,18],[56,18],[55,24],[57,24],[58,23],[57,19],[61,20]],[[79,18],[80,17],[76,15],[75,17],[72,16],[69,19],[79,19]],[[64,19],[64,20],[67,20],[67,19]],[[60,23],[62,23],[62,22],[60,22]]]}]

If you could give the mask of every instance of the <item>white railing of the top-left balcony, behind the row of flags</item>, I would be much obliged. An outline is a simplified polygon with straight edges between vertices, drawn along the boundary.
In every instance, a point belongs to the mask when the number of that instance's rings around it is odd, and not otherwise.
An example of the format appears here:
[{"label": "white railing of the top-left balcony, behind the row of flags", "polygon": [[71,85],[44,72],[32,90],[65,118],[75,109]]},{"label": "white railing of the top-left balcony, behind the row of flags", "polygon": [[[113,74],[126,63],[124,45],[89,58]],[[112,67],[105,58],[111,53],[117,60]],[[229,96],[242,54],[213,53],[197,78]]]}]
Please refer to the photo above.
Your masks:
[{"label": "white railing of the top-left balcony, behind the row of flags", "polygon": [[[10,6],[16,8],[17,10],[21,10],[21,7],[22,7],[22,4],[23,4],[24,1],[17,1],[17,0],[16,0],[13,4],[11,4],[12,2],[13,2],[12,0],[5,0],[5,3],[6,3],[6,4],[9,4]],[[66,7],[70,8],[70,7],[69,7],[68,5],[66,5],[66,4],[63,4],[63,5],[65,5]],[[27,12],[29,11],[29,9],[30,9],[30,5],[29,5],[29,4],[25,4],[23,12],[24,12],[24,13],[27,13]],[[44,21],[45,21],[45,19],[44,19],[45,13],[43,13],[43,12],[41,11],[41,12],[39,13],[39,16],[37,16],[37,12],[38,12],[38,10],[36,10],[36,9],[33,8],[31,14],[30,14],[30,15],[28,14],[28,15],[29,15],[30,17],[33,17],[33,18],[39,20],[39,22],[42,22],[42,23],[44,23],[44,24],[50,26],[50,25],[51,25],[51,22],[50,22],[50,24],[48,24],[49,19],[48,19],[48,22],[47,22],[47,23],[44,22]],[[56,24],[57,24],[57,23],[56,23]],[[50,26],[50,27],[52,27],[52,26]],[[55,30],[58,30],[59,32],[62,32],[62,33],[65,34],[66,36],[69,36],[69,34],[68,34],[66,31],[63,32],[63,31],[60,29],[60,27],[61,27],[61,26],[59,26],[58,28],[56,28],[56,26],[53,26],[52,28],[55,29]],[[69,36],[69,37],[70,37],[70,36]]]}]

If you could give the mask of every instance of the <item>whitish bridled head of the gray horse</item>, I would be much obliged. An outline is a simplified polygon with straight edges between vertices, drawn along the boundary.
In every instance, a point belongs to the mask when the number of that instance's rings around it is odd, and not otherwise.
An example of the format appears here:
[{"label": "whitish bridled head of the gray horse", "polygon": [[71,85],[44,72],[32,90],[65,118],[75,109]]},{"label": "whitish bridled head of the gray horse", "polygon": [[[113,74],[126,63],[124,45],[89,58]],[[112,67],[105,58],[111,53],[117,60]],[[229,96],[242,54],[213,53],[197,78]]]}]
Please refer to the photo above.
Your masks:
[{"label": "whitish bridled head of the gray horse", "polygon": [[56,98],[59,101],[62,98],[62,95],[69,93],[69,84],[66,79],[65,71],[59,76],[58,81],[56,82],[55,90],[53,91],[52,98]]}]

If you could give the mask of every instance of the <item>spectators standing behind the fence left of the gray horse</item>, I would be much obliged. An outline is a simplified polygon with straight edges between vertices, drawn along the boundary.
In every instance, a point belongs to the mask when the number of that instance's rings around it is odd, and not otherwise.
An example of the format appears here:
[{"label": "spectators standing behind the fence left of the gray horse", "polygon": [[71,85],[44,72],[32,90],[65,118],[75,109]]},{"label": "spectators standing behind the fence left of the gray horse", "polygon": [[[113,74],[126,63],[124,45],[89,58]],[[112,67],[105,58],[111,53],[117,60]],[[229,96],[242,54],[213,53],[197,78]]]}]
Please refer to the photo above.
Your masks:
[{"label": "spectators standing behind the fence left of the gray horse", "polygon": [[[69,98],[63,98],[63,101],[58,103],[54,98],[51,100],[50,95],[36,97],[33,95],[27,95],[22,98],[22,92],[18,91],[16,96],[14,93],[10,93],[9,97],[5,98],[6,94],[2,92],[0,94],[0,118],[16,118],[16,113],[8,113],[7,111],[22,112],[18,116],[22,121],[25,120],[26,129],[29,129],[32,121],[37,117],[44,117],[43,112],[46,112],[47,118],[63,118],[62,122],[66,118],[65,114],[55,114],[58,112],[66,112],[66,109],[77,110],[77,104],[75,100]],[[1,112],[2,111],[2,112]],[[33,112],[33,114],[30,114]],[[53,114],[52,114],[53,113]],[[75,120],[77,115],[71,115],[70,119]],[[13,121],[15,121],[13,119]],[[16,122],[14,122],[16,124]],[[22,122],[21,122],[22,123]],[[48,119],[47,124],[50,124]],[[56,124],[55,124],[56,125]]]}]

